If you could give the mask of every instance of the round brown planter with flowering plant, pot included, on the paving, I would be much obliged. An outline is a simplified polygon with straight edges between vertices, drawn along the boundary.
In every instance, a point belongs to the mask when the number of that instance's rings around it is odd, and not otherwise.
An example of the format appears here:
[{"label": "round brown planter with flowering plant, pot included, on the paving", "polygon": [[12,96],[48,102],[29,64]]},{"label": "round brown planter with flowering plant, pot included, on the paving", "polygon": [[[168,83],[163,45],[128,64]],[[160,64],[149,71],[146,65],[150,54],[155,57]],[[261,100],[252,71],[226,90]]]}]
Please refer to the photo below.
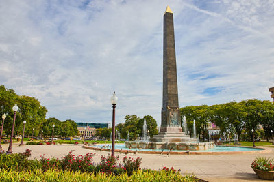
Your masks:
[{"label": "round brown planter with flowering plant, pot included, on the paving", "polygon": [[274,179],[273,159],[269,157],[256,157],[251,167],[260,179]]}]

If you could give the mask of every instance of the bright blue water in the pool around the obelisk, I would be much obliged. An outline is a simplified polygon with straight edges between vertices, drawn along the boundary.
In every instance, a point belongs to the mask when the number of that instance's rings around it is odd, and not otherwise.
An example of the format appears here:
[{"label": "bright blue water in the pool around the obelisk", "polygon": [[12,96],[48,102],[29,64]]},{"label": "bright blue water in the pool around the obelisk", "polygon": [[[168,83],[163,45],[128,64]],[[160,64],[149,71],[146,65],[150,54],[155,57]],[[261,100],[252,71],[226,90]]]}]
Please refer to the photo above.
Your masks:
[{"label": "bright blue water in the pool around the obelisk", "polygon": [[[98,145],[103,146],[103,145]],[[109,148],[111,148],[111,145],[107,145]],[[128,149],[125,147],[125,144],[115,144],[115,149],[123,149],[123,150],[129,150],[129,151],[163,151],[162,149]],[[258,148],[249,148],[249,147],[225,147],[225,146],[215,146],[212,149],[208,149],[206,151],[199,151],[199,152],[227,152],[227,151],[260,151],[264,149],[258,149]],[[164,151],[169,151],[168,149],[164,149]],[[179,151],[179,150],[172,150],[172,151]]]}]

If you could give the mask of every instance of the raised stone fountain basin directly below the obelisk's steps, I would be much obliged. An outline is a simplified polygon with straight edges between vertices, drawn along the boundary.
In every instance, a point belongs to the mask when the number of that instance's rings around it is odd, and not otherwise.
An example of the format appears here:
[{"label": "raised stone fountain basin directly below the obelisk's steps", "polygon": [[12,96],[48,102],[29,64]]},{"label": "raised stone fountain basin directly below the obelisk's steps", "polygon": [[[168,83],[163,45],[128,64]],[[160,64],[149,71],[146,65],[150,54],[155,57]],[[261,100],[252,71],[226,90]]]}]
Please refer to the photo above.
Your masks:
[{"label": "raised stone fountain basin directly below the obelisk's steps", "polygon": [[180,151],[202,151],[212,149],[213,142],[144,142],[131,141],[125,142],[125,147],[128,149],[168,149]]}]

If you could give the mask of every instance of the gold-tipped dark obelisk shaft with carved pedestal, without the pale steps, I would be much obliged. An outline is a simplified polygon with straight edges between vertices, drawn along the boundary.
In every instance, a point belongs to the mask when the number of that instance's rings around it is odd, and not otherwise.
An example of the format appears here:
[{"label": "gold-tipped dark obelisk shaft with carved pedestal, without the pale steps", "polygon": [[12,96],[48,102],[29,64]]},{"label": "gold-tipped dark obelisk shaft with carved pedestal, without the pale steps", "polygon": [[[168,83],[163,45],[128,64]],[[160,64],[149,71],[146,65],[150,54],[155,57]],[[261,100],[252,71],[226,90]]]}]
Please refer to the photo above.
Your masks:
[{"label": "gold-tipped dark obelisk shaft with carved pedestal, without the pale steps", "polygon": [[[180,112],[177,88],[177,68],[173,12],[166,7],[164,13],[164,57],[163,57],[163,100],[161,132],[171,132],[167,127],[180,127]],[[182,130],[182,129],[179,129]],[[174,131],[175,132],[175,131]],[[179,132],[179,131],[178,131]]]}]

